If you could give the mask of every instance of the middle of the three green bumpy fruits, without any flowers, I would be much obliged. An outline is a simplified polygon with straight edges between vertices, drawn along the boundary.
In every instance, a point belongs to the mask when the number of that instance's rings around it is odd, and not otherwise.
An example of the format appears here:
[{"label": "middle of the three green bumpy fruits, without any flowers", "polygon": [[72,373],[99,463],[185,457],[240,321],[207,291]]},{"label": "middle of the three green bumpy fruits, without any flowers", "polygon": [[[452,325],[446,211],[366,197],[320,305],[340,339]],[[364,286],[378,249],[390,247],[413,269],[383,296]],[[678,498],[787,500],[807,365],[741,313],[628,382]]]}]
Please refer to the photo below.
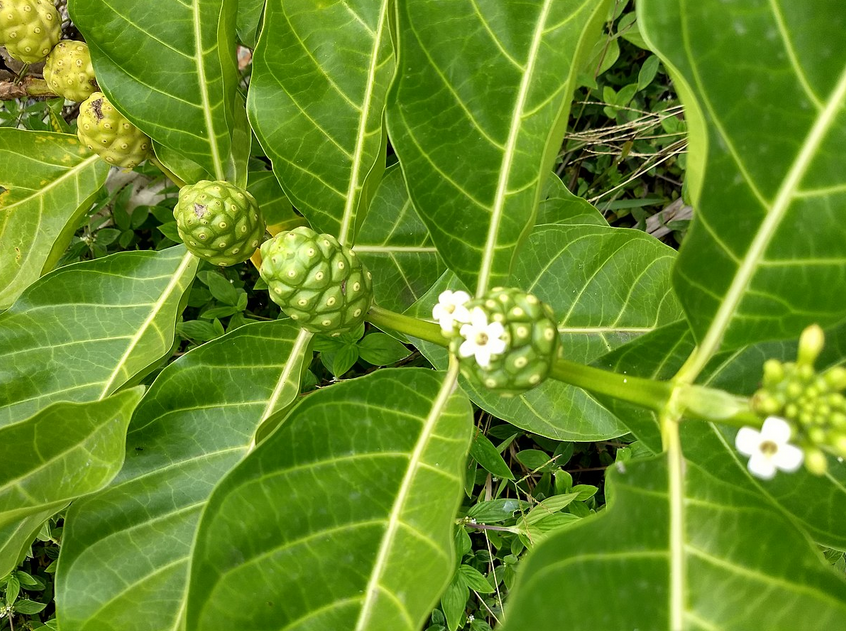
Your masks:
[{"label": "middle of the three green bumpy fruits, without any flowers", "polygon": [[302,328],[340,335],[364,322],[373,276],[335,237],[295,228],[265,242],[261,257],[271,299]]}]

